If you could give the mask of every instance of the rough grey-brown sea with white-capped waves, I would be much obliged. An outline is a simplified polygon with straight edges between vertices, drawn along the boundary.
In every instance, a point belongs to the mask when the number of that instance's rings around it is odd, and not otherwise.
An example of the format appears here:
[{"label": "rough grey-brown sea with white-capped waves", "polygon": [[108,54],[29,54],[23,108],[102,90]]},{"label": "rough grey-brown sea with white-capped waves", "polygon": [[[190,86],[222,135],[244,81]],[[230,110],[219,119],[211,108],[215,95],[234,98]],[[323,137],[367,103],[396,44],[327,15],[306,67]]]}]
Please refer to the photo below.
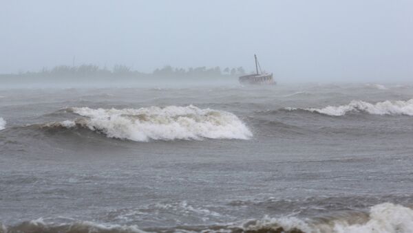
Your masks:
[{"label": "rough grey-brown sea with white-capped waves", "polygon": [[413,85],[0,87],[0,232],[413,232]]}]

